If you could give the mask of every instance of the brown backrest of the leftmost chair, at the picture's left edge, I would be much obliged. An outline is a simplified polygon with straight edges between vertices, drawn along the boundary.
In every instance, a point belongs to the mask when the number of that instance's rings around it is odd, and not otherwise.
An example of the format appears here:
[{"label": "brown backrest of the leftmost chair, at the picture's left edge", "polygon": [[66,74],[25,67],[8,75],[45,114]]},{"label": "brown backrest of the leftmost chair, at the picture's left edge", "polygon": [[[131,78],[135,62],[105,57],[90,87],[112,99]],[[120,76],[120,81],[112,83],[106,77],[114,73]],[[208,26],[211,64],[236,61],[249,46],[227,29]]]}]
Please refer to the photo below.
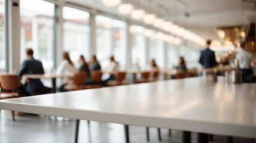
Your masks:
[{"label": "brown backrest of the leftmost chair, at the picture's left edge", "polygon": [[20,85],[19,76],[17,74],[2,74],[0,83],[2,91],[15,91]]}]

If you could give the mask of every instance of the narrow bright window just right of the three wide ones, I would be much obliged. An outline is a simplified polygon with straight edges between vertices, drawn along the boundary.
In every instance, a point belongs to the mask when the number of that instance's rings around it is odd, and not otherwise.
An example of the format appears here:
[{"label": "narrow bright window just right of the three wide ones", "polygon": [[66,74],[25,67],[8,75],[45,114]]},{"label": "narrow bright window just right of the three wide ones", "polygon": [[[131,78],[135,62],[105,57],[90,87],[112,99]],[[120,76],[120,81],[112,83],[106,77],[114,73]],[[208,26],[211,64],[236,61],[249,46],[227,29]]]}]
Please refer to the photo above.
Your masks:
[{"label": "narrow bright window just right of the three wide ones", "polygon": [[132,26],[132,69],[145,70],[146,61],[146,38],[144,36],[145,28],[141,26]]}]

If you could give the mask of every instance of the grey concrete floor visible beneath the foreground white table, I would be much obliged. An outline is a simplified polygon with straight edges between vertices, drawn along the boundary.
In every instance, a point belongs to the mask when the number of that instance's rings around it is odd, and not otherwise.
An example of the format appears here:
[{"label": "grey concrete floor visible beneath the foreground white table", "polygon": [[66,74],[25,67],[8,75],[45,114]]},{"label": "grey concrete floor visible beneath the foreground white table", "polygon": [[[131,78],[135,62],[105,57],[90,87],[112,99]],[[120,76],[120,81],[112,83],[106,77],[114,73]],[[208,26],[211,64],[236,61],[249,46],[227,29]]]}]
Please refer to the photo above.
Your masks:
[{"label": "grey concrete floor visible beneath the foreground white table", "polygon": [[[147,142],[145,127],[129,126],[130,142]],[[1,143],[41,143],[41,142],[74,142],[75,120],[49,119],[48,116],[35,116],[26,114],[16,116],[16,121],[11,119],[11,111],[1,111],[0,142]],[[192,133],[192,142],[196,143],[196,133]],[[179,143],[181,131],[172,130],[169,138],[168,130],[161,129],[162,141],[158,141],[157,129],[150,128],[150,143]],[[225,136],[214,136],[214,142],[225,142]],[[254,139],[234,138],[234,143],[254,143]],[[124,140],[124,126],[114,123],[80,122],[79,143],[122,143]]]}]

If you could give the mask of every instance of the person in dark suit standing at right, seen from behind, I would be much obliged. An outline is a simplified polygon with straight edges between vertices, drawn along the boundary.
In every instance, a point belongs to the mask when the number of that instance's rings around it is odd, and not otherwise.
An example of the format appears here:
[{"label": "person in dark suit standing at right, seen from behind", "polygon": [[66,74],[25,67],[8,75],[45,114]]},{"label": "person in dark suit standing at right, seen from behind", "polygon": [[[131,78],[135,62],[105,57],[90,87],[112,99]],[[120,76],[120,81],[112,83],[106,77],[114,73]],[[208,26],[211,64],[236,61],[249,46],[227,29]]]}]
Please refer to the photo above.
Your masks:
[{"label": "person in dark suit standing at right, seen from behind", "polygon": [[201,51],[199,63],[203,65],[205,68],[215,67],[217,65],[217,61],[215,59],[214,51],[210,49],[211,41],[207,41],[207,48]]}]

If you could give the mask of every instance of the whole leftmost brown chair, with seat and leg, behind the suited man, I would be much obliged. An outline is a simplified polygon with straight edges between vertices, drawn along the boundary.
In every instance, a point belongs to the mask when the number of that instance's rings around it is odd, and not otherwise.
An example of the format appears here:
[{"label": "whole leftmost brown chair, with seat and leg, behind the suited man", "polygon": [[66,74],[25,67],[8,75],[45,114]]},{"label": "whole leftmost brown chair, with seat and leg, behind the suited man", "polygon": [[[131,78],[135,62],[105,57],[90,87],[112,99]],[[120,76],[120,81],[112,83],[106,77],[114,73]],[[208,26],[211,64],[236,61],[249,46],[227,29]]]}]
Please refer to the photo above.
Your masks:
[{"label": "whole leftmost brown chair, with seat and leg, behind the suited man", "polygon": [[[0,100],[8,99],[8,98],[17,98],[17,97],[23,97],[24,95],[19,95],[17,93],[17,89],[19,88],[20,80],[19,76],[16,74],[2,74],[0,75],[0,86],[1,91],[0,93]],[[11,111],[13,116],[13,121],[15,121],[14,118],[14,111]]]}]

